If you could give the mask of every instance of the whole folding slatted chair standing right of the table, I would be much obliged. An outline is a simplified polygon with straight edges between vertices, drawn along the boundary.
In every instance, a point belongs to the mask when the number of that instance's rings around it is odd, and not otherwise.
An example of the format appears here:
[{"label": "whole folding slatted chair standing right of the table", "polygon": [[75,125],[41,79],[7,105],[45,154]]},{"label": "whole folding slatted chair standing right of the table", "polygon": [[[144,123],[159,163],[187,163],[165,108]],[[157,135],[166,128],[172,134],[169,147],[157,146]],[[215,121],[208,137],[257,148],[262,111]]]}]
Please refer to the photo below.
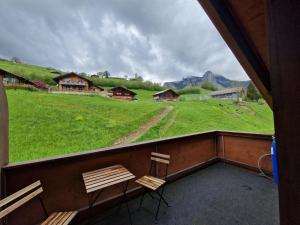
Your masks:
[{"label": "whole folding slatted chair standing right of the table", "polygon": [[[156,193],[159,196],[159,200],[158,200],[159,202],[158,202],[158,206],[157,206],[156,213],[155,213],[155,221],[157,222],[161,201],[163,201],[166,204],[166,206],[169,207],[169,204],[166,201],[166,199],[163,197],[163,194],[164,194],[164,189],[165,189],[165,184],[166,184],[166,178],[168,175],[168,167],[170,164],[170,155],[165,155],[165,154],[161,154],[161,153],[157,153],[157,152],[151,152],[150,159],[151,159],[151,165],[150,165],[149,175],[145,175],[145,176],[141,177],[140,179],[136,180],[135,182],[142,185],[146,189],[150,189],[150,191],[154,191],[154,193]],[[158,163],[160,165],[165,166],[165,176],[163,178],[157,177],[156,165]],[[161,188],[161,192],[159,192],[160,188]],[[154,196],[152,196],[151,192],[144,193],[143,196],[141,197],[139,210],[142,207],[145,194],[149,194],[152,199],[155,199]]]}]

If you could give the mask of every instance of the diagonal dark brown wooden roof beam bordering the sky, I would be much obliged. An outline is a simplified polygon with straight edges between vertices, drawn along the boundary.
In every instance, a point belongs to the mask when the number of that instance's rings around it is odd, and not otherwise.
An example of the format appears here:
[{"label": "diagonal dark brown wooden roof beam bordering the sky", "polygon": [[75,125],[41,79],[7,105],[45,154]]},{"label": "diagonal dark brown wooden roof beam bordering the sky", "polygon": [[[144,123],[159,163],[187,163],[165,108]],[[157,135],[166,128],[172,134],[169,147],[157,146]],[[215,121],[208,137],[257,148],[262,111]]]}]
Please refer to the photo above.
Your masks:
[{"label": "diagonal dark brown wooden roof beam bordering the sky", "polygon": [[272,108],[269,70],[231,14],[225,0],[198,0],[244,70]]}]

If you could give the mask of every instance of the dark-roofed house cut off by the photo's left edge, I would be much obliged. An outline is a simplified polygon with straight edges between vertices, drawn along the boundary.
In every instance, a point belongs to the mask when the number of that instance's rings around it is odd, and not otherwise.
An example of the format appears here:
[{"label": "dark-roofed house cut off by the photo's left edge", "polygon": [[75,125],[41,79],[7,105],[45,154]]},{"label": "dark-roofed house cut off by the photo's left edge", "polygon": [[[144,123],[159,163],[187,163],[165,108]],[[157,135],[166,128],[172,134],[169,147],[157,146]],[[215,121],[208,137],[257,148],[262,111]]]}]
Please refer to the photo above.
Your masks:
[{"label": "dark-roofed house cut off by the photo's left edge", "polygon": [[0,69],[0,81],[6,86],[34,87],[31,81],[3,69]]}]

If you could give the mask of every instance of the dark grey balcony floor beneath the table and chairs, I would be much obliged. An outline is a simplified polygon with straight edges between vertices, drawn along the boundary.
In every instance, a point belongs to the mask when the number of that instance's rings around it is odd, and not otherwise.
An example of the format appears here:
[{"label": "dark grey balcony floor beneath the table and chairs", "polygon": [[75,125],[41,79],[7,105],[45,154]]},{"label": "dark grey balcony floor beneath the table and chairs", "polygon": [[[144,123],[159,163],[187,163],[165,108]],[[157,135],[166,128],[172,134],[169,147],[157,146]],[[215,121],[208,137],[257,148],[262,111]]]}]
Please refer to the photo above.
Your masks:
[{"label": "dark grey balcony floor beneath the table and chairs", "polygon": [[[217,163],[166,187],[170,208],[161,206],[161,225],[277,225],[278,191],[273,181],[257,173]],[[130,201],[134,225],[152,225],[157,206],[148,195],[137,212],[139,198]],[[111,213],[111,212],[107,212]],[[103,216],[102,216],[103,217]],[[127,225],[125,205],[114,216],[96,218],[92,224]]]}]

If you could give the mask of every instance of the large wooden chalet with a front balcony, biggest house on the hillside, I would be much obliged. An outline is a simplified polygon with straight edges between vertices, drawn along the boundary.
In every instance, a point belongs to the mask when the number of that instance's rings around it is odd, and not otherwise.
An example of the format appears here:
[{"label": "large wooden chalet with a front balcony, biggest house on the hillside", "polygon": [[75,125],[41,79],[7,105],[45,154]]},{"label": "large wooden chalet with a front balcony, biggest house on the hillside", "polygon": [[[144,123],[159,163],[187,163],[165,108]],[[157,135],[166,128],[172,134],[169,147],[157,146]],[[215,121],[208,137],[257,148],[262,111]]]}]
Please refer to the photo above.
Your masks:
[{"label": "large wooden chalet with a front balcony, biggest house on the hillside", "polygon": [[89,79],[76,73],[67,73],[53,78],[58,84],[59,91],[95,92],[100,93],[104,89],[96,86]]}]

